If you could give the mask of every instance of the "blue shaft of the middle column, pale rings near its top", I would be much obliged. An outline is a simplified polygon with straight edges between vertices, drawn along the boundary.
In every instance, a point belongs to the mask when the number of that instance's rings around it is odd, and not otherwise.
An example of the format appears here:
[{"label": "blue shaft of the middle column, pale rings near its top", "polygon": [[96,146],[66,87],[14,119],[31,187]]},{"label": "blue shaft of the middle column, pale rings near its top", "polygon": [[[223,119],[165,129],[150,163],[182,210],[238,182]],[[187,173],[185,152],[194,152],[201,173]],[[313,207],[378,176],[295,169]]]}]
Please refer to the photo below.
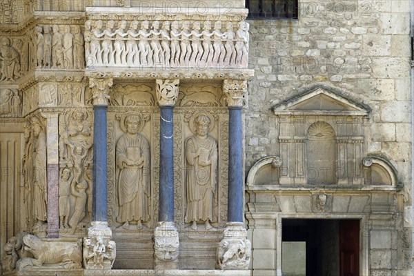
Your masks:
[{"label": "blue shaft of the middle column, pale rings near its top", "polygon": [[158,221],[174,221],[174,106],[160,106]]}]

